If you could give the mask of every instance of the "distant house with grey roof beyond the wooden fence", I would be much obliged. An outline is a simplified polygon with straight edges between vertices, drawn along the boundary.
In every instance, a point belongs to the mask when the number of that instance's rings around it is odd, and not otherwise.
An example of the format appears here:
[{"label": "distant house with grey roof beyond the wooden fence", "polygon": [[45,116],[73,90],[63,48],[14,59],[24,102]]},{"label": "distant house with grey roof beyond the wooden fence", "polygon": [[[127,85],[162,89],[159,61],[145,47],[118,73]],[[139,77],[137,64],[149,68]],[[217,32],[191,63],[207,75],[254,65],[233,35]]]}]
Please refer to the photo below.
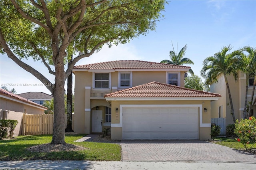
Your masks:
[{"label": "distant house with grey roof beyond the wooden fence", "polygon": [[35,103],[38,103],[40,105],[44,105],[44,101],[50,101],[53,99],[52,95],[48,95],[43,92],[27,92],[27,93],[21,93],[18,94],[21,97],[24,97],[25,99],[31,100]]}]

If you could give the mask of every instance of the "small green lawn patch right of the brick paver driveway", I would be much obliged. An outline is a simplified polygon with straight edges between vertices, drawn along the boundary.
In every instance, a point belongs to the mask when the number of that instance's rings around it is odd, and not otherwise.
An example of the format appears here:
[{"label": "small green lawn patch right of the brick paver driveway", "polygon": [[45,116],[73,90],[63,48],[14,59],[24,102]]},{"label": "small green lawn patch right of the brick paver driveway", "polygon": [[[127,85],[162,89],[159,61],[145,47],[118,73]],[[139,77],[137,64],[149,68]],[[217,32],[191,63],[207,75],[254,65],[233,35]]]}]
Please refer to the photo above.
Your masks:
[{"label": "small green lawn patch right of the brick paver driveway", "polygon": [[[235,138],[217,137],[215,139],[212,139],[211,142],[237,150],[245,150],[244,145],[241,142],[238,142]],[[248,149],[256,148],[256,143],[250,142],[249,144],[246,144],[246,147]]]}]

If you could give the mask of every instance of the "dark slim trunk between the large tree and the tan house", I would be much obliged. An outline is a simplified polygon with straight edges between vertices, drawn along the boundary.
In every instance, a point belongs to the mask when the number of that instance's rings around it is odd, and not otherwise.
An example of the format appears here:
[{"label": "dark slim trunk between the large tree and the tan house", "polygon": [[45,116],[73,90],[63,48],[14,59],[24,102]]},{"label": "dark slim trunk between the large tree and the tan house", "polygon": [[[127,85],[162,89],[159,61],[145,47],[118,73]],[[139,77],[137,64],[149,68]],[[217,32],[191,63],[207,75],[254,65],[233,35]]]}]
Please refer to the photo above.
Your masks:
[{"label": "dark slim trunk between the large tree and the tan house", "polygon": [[[68,66],[72,63],[72,57],[68,61]],[[74,132],[72,129],[72,73],[68,76],[68,88],[67,88],[67,127],[65,132]]]}]

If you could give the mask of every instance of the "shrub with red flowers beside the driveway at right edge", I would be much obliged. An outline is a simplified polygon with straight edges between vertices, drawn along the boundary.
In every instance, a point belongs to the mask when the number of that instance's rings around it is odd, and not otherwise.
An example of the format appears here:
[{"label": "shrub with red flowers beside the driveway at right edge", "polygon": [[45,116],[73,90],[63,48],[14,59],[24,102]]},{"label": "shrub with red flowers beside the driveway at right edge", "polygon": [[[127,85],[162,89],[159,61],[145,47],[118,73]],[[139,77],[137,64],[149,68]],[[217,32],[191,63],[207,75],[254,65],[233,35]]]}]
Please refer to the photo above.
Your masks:
[{"label": "shrub with red flowers beside the driveway at right edge", "polygon": [[246,144],[249,144],[250,141],[256,142],[256,118],[236,120],[235,127],[234,133],[238,136],[237,141],[241,142],[248,150]]}]

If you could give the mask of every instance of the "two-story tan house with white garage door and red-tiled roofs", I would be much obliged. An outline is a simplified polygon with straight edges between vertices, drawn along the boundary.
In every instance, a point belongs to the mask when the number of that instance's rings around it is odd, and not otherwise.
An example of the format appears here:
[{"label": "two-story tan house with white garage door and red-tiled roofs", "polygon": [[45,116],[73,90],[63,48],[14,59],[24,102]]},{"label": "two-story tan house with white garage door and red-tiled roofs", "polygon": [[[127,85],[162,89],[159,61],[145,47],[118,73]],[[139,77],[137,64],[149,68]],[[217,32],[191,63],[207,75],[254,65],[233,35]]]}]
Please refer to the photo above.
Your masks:
[{"label": "two-story tan house with white garage door and red-tiled roofs", "polygon": [[210,101],[220,95],[184,88],[189,69],[148,61],[75,66],[74,131],[111,127],[118,140],[210,139]]}]

